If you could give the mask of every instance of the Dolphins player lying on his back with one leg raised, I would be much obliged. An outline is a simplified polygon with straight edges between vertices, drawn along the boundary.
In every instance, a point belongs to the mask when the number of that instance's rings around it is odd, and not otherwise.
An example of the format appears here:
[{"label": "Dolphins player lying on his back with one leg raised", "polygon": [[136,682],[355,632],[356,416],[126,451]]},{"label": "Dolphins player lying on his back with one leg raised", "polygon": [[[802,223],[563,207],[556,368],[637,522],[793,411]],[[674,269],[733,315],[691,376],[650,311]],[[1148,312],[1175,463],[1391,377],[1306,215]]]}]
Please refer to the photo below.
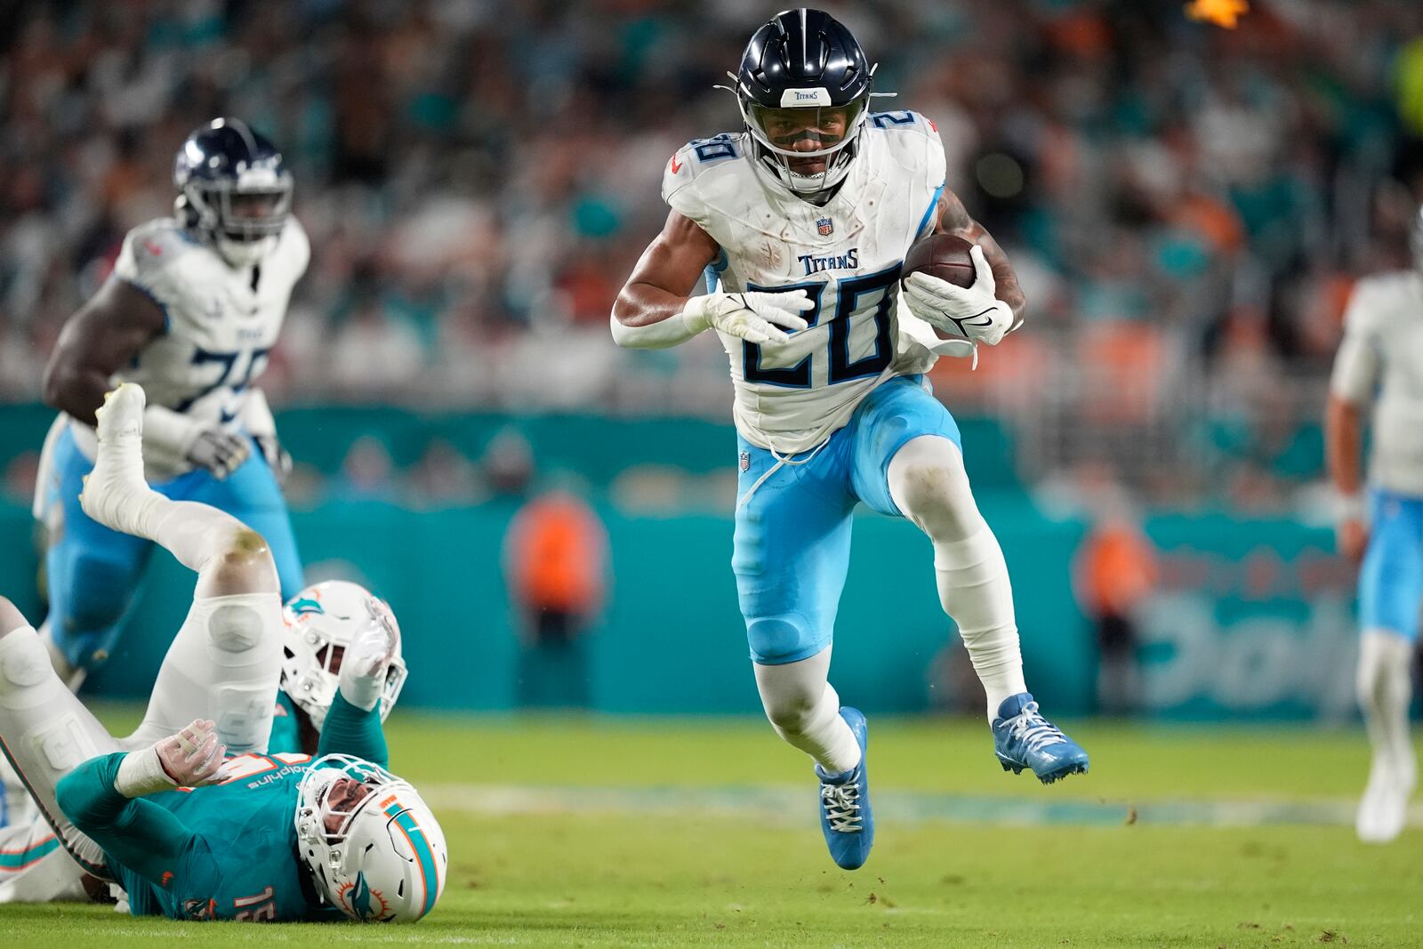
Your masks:
[{"label": "Dolphins player lying on his back with one leg raised", "polygon": [[[263,754],[280,673],[276,569],[260,535],[215,508],[171,501],[142,477],[144,393],[121,386],[98,413],[81,502],[95,521],[158,542],[198,572],[179,636],[222,676],[209,714],[168,726],[155,700],[120,743],[55,674],[36,630],[0,599],[0,746],[85,872],[118,882],[134,915],[175,919],[414,921],[438,899],[448,854],[434,814],[384,768],[380,699],[396,629],[377,612],[344,650],[319,751]],[[255,686],[266,683],[265,696]],[[229,682],[238,686],[229,687]],[[189,700],[192,696],[189,696]],[[238,751],[223,760],[228,748]]]}]

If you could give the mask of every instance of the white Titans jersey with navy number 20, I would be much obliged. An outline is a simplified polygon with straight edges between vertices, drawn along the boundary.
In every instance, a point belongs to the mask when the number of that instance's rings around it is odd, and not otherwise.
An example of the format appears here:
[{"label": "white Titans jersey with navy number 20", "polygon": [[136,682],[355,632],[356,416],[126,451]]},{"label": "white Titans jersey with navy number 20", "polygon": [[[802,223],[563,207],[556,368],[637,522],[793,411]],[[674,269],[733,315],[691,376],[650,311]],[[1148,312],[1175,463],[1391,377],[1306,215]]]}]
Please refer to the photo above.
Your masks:
[{"label": "white Titans jersey with navy number 20", "polygon": [[[935,356],[899,307],[899,266],[943,192],[943,145],[918,112],[871,114],[840,191],[815,206],[758,168],[750,135],[684,145],[663,199],[721,248],[707,273],[723,292],[808,292],[810,329],[784,346],[726,333],[733,415],[753,445],[798,452],[850,421],[872,388],[928,370]],[[932,336],[931,336],[932,343]]]}]

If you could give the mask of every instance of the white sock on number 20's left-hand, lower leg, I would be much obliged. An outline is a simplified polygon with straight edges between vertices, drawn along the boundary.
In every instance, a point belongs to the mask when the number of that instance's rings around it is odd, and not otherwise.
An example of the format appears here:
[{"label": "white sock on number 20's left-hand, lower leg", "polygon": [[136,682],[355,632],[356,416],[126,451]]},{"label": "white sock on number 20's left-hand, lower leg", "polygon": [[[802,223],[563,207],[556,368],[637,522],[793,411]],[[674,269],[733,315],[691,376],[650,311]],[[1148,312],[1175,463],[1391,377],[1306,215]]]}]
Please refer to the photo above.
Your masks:
[{"label": "white sock on number 20's left-hand, lower leg", "polygon": [[776,734],[800,748],[828,774],[859,764],[859,743],[840,717],[840,696],[830,686],[830,647],[794,663],[754,663],[756,687]]}]

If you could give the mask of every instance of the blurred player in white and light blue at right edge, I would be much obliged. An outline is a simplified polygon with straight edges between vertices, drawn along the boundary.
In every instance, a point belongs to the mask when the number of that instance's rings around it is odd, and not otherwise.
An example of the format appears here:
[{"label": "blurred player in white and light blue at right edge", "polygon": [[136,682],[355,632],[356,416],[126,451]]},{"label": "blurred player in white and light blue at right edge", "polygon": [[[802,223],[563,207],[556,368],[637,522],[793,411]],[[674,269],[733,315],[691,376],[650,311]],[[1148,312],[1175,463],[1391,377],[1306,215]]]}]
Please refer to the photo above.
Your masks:
[{"label": "blurred player in white and light blue at right edge", "polygon": [[[1423,209],[1413,269],[1363,277],[1345,310],[1329,381],[1329,477],[1343,499],[1339,548],[1359,569],[1359,707],[1373,764],[1355,827],[1386,844],[1403,831],[1417,780],[1409,738],[1413,650],[1423,608]],[[1373,408],[1369,491],[1363,408]]]}]

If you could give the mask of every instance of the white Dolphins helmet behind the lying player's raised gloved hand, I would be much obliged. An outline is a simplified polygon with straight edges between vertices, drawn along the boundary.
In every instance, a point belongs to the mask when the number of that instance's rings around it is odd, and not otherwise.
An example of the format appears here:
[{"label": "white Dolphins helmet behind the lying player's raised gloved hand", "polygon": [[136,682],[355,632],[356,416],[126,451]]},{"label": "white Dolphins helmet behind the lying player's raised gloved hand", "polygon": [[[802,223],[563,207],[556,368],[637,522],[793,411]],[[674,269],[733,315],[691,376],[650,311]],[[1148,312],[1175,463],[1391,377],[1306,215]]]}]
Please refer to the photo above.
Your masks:
[{"label": "white Dolphins helmet behind the lying player's raised gloved hand", "polygon": [[317,731],[336,700],[342,659],[346,649],[371,623],[387,623],[396,637],[396,657],[386,673],[380,694],[384,721],[406,684],[406,660],[400,654],[400,626],[384,600],[360,583],[326,580],[314,583],[282,608],[286,639],[282,659],[282,691],[312,719]]}]

